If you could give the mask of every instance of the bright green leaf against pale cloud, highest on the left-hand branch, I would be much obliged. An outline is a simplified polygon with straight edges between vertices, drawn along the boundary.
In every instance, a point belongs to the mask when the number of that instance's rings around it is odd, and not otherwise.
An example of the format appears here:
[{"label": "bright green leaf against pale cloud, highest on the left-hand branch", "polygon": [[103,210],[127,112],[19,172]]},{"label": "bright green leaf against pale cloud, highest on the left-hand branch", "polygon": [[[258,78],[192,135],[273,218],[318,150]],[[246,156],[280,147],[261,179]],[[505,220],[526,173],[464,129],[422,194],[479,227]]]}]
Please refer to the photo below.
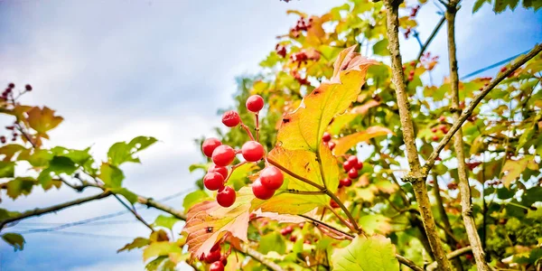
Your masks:
[{"label": "bright green leaf against pale cloud, highest on the left-hand branch", "polygon": [[129,143],[117,142],[112,145],[107,152],[109,164],[118,166],[125,162],[140,163],[139,158],[134,154],[145,150],[149,145],[153,145],[156,142],[156,138],[150,136],[137,136]]}]

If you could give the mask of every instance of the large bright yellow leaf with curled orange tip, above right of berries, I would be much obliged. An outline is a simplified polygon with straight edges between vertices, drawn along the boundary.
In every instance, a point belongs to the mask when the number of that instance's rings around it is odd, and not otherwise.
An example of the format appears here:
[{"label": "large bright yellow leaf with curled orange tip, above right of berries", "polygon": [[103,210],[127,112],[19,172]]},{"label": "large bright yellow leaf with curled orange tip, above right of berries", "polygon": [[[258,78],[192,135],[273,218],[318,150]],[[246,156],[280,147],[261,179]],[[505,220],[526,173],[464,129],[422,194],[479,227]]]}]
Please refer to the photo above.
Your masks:
[{"label": "large bright yellow leaf with curled orange tip, above right of berries", "polygon": [[341,51],[334,64],[332,81],[322,83],[304,97],[300,107],[285,115],[277,134],[279,145],[290,150],[317,152],[332,118],[356,100],[367,69],[376,63],[362,58],[355,49],[352,46]]}]

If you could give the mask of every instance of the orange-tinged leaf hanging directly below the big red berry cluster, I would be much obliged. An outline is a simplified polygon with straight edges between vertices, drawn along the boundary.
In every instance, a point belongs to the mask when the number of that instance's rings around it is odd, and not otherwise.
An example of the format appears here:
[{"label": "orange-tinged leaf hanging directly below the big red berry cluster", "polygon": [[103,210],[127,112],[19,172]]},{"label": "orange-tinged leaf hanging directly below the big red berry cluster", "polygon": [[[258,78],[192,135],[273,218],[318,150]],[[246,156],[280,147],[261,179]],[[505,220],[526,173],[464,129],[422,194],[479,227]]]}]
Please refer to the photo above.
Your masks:
[{"label": "orange-tinged leaf hanging directly below the big red berry cluster", "polygon": [[221,207],[217,201],[203,201],[192,206],[182,230],[187,233],[186,244],[192,257],[209,253],[210,248],[226,234],[247,242],[249,202],[253,199],[250,187],[243,187],[229,208]]}]

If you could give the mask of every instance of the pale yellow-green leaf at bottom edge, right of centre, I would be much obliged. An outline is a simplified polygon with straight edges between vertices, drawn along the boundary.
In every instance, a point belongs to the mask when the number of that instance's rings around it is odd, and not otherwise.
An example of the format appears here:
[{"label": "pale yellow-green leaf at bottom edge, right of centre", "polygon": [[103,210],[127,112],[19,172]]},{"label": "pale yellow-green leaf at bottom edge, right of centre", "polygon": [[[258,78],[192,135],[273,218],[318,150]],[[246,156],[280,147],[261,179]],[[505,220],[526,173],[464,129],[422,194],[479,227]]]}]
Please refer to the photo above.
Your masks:
[{"label": "pale yellow-green leaf at bottom edge, right of centre", "polygon": [[389,238],[376,235],[356,237],[346,248],[337,248],[332,255],[334,271],[370,270],[399,271],[396,249]]}]

